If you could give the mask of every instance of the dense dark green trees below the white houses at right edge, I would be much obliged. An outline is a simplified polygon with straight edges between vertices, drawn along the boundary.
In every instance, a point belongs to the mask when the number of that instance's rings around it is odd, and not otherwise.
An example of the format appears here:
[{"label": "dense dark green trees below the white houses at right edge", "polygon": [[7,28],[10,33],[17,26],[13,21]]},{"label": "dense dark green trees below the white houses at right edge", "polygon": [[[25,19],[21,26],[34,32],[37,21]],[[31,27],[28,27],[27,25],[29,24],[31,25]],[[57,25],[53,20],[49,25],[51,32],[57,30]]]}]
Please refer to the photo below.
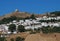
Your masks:
[{"label": "dense dark green trees below the white houses at right edge", "polygon": [[43,33],[60,33],[60,27],[43,27],[41,28]]}]

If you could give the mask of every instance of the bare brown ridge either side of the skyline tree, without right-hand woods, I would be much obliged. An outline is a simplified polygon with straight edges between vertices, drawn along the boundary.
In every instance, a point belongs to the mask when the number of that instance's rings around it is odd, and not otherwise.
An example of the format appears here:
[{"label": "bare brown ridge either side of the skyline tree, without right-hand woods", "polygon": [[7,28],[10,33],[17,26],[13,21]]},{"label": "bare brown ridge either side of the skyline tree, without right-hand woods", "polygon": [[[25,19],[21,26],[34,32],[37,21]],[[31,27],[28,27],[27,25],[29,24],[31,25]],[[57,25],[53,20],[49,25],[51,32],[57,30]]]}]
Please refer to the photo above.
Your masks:
[{"label": "bare brown ridge either side of the skyline tree, without right-hand woods", "polygon": [[[0,20],[3,18],[7,18],[7,17],[11,17],[11,16],[16,16],[16,17],[20,17],[20,18],[26,18],[26,17],[30,17],[32,14],[28,13],[28,12],[20,12],[18,10],[15,10],[14,12],[11,12],[9,14],[6,14],[4,16],[0,16]],[[42,17],[46,14],[34,14],[35,17]]]}]

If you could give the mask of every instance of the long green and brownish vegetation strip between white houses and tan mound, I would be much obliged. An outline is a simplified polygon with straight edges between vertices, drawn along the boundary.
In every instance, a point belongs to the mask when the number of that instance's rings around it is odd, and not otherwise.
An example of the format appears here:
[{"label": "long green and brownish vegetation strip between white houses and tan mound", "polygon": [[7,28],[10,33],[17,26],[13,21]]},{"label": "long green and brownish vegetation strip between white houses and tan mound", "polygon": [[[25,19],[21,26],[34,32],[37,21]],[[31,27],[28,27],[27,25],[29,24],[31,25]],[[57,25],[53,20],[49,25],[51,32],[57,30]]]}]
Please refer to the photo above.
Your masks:
[{"label": "long green and brownish vegetation strip between white houses and tan mound", "polygon": [[35,34],[35,33],[40,33],[40,31],[42,31],[43,33],[60,33],[60,27],[50,27],[50,26],[47,26],[47,27],[42,27],[42,28],[38,28],[38,29],[34,29],[34,32],[33,30],[30,30],[30,34]]}]

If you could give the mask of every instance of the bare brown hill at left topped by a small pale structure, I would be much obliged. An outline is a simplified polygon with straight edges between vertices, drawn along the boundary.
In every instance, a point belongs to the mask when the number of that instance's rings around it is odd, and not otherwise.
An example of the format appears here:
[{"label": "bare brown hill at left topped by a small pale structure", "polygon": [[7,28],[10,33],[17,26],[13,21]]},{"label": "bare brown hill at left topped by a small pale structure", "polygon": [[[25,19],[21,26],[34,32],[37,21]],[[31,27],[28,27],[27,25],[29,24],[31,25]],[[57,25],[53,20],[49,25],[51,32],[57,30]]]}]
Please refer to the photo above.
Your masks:
[{"label": "bare brown hill at left topped by a small pale structure", "polygon": [[15,16],[15,17],[19,17],[19,18],[26,18],[26,17],[30,17],[31,14],[29,14],[27,12],[17,12],[17,11],[15,11],[15,12],[6,14],[4,16],[0,16],[0,20],[3,19],[3,18],[11,17],[11,16]]}]

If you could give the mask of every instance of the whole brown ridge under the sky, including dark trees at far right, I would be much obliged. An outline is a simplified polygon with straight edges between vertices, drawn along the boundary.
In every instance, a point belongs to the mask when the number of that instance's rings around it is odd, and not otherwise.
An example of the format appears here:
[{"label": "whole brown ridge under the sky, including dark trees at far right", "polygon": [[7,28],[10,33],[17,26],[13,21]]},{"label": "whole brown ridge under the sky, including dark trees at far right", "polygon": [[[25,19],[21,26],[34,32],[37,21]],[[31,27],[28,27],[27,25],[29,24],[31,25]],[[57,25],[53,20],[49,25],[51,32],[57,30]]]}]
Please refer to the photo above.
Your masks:
[{"label": "whole brown ridge under the sky, including dark trees at far right", "polygon": [[[0,16],[0,20],[3,18],[11,17],[11,16],[16,16],[19,18],[26,18],[30,17],[32,14],[28,12],[20,12],[19,10],[15,10],[15,12],[11,12],[9,14],[6,14],[4,16]],[[50,13],[45,13],[45,14],[34,14],[35,17],[42,17],[42,16],[60,16],[60,11],[55,11],[55,12],[50,12]]]}]

